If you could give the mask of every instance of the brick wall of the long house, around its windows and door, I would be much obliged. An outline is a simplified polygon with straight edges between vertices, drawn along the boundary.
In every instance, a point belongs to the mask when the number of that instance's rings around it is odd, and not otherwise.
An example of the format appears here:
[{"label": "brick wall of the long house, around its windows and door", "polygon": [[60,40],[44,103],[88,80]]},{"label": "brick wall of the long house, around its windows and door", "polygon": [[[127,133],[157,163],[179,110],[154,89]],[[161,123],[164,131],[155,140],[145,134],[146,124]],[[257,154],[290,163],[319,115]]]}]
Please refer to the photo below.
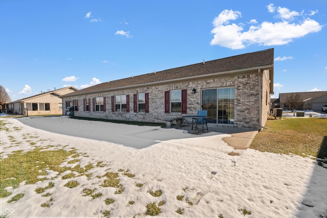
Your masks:
[{"label": "brick wall of the long house, around its windows and door", "polygon": [[[164,119],[169,117],[197,114],[197,111],[201,110],[201,90],[222,87],[235,87],[235,124],[223,125],[231,127],[259,128],[259,74],[257,71],[229,77],[217,76],[210,79],[185,80],[176,83],[144,86],[129,90],[99,92],[96,94],[63,98],[62,100],[63,105],[65,105],[65,101],[78,99],[79,111],[74,112],[75,116],[163,123]],[[193,88],[196,89],[196,94],[192,94]],[[180,89],[187,90],[187,114],[165,114],[165,91]],[[145,92],[149,93],[149,113],[134,113],[133,94]],[[111,96],[114,95],[129,95],[129,113],[111,112]],[[92,99],[104,96],[106,97],[106,112],[83,112],[84,98]],[[92,104],[92,100],[90,103]],[[92,110],[92,105],[90,105],[90,108]],[[63,114],[65,114],[65,108],[63,108]]]}]

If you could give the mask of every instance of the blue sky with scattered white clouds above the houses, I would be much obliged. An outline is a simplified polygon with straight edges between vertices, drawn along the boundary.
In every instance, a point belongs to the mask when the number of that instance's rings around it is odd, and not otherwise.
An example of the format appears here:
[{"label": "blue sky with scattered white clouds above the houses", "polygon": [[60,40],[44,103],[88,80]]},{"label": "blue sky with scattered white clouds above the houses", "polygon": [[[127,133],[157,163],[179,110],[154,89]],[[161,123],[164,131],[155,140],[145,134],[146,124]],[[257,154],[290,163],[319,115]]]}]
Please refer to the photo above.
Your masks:
[{"label": "blue sky with scattered white clouds above the houses", "polygon": [[327,2],[0,0],[11,100],[274,48],[274,92],[327,91]]}]

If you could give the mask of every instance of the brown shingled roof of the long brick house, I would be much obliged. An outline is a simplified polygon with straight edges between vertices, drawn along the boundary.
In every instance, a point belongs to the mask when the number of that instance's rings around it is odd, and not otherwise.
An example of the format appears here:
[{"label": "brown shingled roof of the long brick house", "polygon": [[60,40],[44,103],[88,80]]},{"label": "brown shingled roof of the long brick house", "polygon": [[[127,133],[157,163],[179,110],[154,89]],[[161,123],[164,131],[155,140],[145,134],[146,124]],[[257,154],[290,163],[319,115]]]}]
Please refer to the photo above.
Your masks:
[{"label": "brown shingled roof of the long brick house", "polygon": [[146,84],[152,82],[167,81],[173,79],[180,79],[192,76],[200,76],[205,74],[228,72],[239,69],[255,68],[260,66],[272,65],[274,61],[274,49],[267,49],[258,52],[246,53],[237,56],[221,58],[217,60],[206,61],[205,64],[195,63],[189,66],[173,68],[156,73],[143,74],[139,76],[128,77],[109,82],[104,82],[98,85],[90,86],[88,88],[76,91],[66,96],[76,96],[91,92],[102,90],[109,90],[124,86],[132,86],[139,84]]}]

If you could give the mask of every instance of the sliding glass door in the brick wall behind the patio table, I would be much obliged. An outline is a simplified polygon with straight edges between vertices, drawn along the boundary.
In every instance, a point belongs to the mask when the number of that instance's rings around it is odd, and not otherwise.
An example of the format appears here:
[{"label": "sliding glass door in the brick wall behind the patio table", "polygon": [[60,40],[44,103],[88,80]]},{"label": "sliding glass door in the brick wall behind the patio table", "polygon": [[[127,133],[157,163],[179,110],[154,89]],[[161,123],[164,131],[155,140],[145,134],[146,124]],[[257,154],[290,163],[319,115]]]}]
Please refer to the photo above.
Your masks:
[{"label": "sliding glass door in the brick wall behind the patio table", "polygon": [[208,123],[234,124],[235,88],[202,90],[202,110]]}]

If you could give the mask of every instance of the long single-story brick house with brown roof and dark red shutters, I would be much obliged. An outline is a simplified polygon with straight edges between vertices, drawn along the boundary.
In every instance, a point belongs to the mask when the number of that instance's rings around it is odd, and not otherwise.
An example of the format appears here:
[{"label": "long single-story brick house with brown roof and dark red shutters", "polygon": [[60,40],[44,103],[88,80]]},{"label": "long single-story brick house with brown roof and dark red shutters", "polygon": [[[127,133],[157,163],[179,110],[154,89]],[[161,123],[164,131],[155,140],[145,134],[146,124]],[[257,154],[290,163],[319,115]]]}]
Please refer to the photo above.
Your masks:
[{"label": "long single-story brick house with brown roof and dark red shutters", "polygon": [[209,126],[261,129],[273,94],[273,61],[272,48],[104,82],[60,98],[79,117],[162,123],[206,110]]}]

